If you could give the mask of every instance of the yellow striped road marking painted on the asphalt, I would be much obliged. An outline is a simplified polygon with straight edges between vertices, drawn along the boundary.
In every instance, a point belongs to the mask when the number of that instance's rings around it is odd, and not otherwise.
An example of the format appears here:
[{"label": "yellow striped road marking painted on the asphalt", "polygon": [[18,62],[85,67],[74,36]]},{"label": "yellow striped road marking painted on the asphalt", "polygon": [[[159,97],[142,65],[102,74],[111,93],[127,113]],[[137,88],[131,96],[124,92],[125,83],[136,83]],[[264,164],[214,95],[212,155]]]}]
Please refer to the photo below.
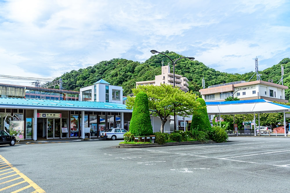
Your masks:
[{"label": "yellow striped road marking painted on the asphalt", "polygon": [[[6,167],[11,167],[11,169],[14,171],[14,172],[16,172],[16,174],[12,174],[12,175],[10,175],[10,176],[5,176],[5,177],[3,177],[3,178],[0,178],[0,180],[2,180],[2,179],[6,179],[6,178],[9,178],[9,177],[12,177],[12,176],[16,176],[16,175],[19,175],[20,177],[18,177],[17,179],[20,179],[20,178],[23,178],[23,180],[24,181],[22,181],[22,182],[19,182],[19,183],[16,183],[16,185],[19,185],[19,184],[21,184],[21,183],[23,183],[23,182],[27,182],[27,183],[29,183],[29,185],[28,186],[25,186],[25,187],[22,187],[22,188],[20,188],[20,189],[18,189],[18,190],[16,190],[16,191],[14,191],[14,192],[21,192],[22,190],[25,190],[25,189],[27,189],[27,188],[29,188],[29,187],[33,187],[34,189],[35,189],[35,191],[34,192],[45,192],[41,187],[39,187],[36,183],[34,183],[32,180],[30,180],[26,175],[24,175],[24,174],[22,174],[16,167],[14,167],[11,163],[9,163],[4,157],[2,157],[1,155],[0,155],[0,159],[2,159],[8,166],[6,166]],[[3,168],[6,168],[6,167],[0,167],[0,169],[3,169]],[[7,172],[7,173],[10,173],[10,172]],[[10,180],[10,181],[13,181],[13,180],[15,180],[15,179],[12,179],[12,180]],[[8,181],[6,181],[6,182],[4,182],[4,183],[7,183]],[[1,184],[3,184],[3,183],[1,183]],[[12,186],[15,186],[15,184],[13,184],[13,185],[10,185],[10,186],[7,186],[7,187],[4,187],[5,189],[0,189],[0,191],[2,191],[2,190],[6,190],[6,189],[8,189],[8,188],[10,188],[10,187],[12,187]]]}]

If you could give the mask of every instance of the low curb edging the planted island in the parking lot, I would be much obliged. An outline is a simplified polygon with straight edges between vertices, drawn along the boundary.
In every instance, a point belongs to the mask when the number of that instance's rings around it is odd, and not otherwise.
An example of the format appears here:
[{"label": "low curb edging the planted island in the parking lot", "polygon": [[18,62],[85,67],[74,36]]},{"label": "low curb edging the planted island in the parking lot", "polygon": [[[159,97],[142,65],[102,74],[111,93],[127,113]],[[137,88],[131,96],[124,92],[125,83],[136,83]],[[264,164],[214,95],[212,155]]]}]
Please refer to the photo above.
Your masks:
[{"label": "low curb edging the planted island in the parking lot", "polygon": [[155,148],[155,147],[165,147],[165,146],[176,146],[176,145],[197,145],[197,144],[204,144],[204,143],[216,143],[215,141],[183,141],[183,142],[171,142],[166,143],[163,145],[159,145],[158,143],[151,143],[151,144],[119,144],[116,148]]}]

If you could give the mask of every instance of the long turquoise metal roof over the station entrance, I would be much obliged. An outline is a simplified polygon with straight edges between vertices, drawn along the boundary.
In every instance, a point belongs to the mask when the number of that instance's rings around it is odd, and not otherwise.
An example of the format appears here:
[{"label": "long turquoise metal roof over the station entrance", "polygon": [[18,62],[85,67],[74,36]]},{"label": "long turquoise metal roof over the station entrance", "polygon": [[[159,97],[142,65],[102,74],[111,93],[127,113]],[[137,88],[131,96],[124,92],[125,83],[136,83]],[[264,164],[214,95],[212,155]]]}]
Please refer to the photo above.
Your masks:
[{"label": "long turquoise metal roof over the station entrance", "polygon": [[23,99],[23,98],[4,98],[0,97],[0,108],[11,106],[11,108],[55,108],[55,109],[70,109],[70,110],[112,110],[112,111],[127,111],[126,105],[108,102],[93,102],[93,101],[66,101],[66,100],[48,100],[48,99]]}]

